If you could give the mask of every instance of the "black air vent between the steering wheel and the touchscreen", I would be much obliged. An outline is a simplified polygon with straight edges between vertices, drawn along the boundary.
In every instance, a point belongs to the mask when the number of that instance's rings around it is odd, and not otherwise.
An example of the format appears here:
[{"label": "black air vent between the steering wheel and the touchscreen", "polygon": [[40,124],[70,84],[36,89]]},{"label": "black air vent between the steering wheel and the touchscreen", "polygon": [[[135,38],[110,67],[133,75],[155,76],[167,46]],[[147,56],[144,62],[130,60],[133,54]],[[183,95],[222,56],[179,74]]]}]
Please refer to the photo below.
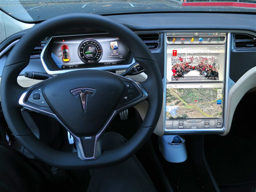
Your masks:
[{"label": "black air vent between the steering wheel and the touchscreen", "polygon": [[137,34],[142,41],[148,46],[150,50],[156,50],[159,47],[160,34],[159,33],[140,33]]}]

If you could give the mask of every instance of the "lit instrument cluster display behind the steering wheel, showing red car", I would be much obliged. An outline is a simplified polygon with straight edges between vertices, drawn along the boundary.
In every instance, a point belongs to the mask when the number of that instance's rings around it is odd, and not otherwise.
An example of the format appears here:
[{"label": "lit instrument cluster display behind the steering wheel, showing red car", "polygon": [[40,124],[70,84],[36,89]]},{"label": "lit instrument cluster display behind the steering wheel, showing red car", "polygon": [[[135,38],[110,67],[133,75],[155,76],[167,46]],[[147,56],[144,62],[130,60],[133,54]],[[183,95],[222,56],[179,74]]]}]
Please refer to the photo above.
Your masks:
[{"label": "lit instrument cluster display behind the steering wheel, showing red car", "polygon": [[108,34],[52,37],[51,46],[51,59],[60,69],[120,65],[129,53],[118,37]]}]

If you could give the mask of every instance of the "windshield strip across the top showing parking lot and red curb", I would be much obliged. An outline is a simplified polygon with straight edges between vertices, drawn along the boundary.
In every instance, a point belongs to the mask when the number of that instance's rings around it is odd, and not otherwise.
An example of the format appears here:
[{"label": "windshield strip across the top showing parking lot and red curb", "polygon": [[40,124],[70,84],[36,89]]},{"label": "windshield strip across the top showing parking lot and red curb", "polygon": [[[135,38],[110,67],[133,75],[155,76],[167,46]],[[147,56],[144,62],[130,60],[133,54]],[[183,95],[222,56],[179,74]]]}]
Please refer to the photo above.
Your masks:
[{"label": "windshield strip across the top showing parking lot and red curb", "polygon": [[66,13],[100,15],[145,12],[255,12],[256,0],[0,0],[0,8],[18,20],[34,22]]}]

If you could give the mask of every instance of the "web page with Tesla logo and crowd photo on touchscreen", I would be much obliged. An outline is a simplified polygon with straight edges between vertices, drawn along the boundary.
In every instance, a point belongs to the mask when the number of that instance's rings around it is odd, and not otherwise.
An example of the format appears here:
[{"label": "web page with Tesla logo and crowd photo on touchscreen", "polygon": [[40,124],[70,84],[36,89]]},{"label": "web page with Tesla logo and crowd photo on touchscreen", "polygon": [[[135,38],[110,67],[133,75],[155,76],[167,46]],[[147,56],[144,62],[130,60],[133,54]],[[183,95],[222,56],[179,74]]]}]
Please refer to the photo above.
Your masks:
[{"label": "web page with Tesla logo and crowd photo on touchscreen", "polygon": [[225,46],[168,47],[167,82],[223,81]]}]

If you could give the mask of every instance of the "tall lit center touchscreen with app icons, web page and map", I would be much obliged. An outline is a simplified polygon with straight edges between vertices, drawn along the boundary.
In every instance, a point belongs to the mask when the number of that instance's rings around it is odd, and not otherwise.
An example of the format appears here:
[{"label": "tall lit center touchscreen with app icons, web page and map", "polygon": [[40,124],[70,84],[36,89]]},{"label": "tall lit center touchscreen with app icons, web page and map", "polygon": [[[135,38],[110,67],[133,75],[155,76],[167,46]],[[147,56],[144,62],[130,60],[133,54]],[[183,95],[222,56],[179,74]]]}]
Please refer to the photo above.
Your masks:
[{"label": "tall lit center touchscreen with app icons, web page and map", "polygon": [[165,129],[222,128],[226,33],[166,35]]}]

